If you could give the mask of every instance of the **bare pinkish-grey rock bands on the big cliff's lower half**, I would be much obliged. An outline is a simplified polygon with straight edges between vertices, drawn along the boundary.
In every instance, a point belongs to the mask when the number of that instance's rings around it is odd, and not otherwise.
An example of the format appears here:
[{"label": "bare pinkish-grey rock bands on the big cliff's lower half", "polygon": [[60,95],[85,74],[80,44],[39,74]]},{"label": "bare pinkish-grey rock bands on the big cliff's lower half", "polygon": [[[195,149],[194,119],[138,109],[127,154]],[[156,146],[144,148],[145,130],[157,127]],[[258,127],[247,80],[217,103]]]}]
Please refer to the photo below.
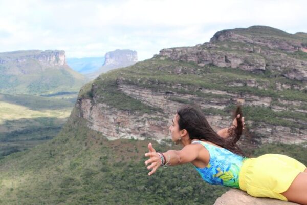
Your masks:
[{"label": "bare pinkish-grey rock bands on the big cliff's lower half", "polygon": [[[95,85],[93,86],[95,87]],[[218,93],[229,95],[230,98],[203,98],[191,94],[178,94],[162,90],[153,91],[151,89],[139,88],[137,86],[123,84],[120,80],[118,81],[118,89],[125,95],[138,99],[149,106],[159,108],[161,111],[153,114],[131,113],[130,111],[119,110],[111,105],[100,103],[99,96],[94,96],[93,99],[79,98],[76,104],[80,110],[79,117],[87,120],[89,128],[101,132],[110,140],[118,138],[152,138],[157,141],[169,139],[168,127],[174,112],[176,112],[176,109],[185,105],[190,99],[193,99],[193,103],[198,104],[202,109],[209,110],[223,110],[231,102],[240,102],[244,106],[269,107],[272,101],[270,97],[258,97],[255,95],[241,97],[239,94],[214,90],[202,90],[202,92],[205,94]],[[288,100],[285,100],[283,103],[286,105],[284,107],[278,107],[278,109],[287,109],[287,104],[299,104],[299,102]],[[303,112],[306,111],[304,110]],[[256,122],[251,120],[249,116],[246,116],[246,118],[248,119],[249,125],[251,125],[250,131],[255,134],[255,138],[243,138],[242,142],[245,145],[257,147],[268,142],[288,144],[307,141],[307,124],[304,120],[294,120],[298,125],[301,125],[301,128],[294,128]],[[221,115],[207,115],[207,120],[216,131],[228,127],[232,121],[229,116]]]}]

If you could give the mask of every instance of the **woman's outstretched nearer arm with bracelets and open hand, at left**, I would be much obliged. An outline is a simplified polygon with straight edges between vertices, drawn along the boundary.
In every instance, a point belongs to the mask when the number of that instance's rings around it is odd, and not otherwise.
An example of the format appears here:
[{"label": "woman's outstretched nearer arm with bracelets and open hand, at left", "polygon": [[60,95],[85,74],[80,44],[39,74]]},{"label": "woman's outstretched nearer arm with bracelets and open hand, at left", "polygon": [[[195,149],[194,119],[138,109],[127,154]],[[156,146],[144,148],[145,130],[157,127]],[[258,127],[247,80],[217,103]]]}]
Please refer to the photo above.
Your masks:
[{"label": "woman's outstretched nearer arm with bracelets and open hand, at left", "polygon": [[[180,165],[183,163],[189,163],[198,157],[199,151],[202,147],[198,144],[186,145],[182,150],[168,150],[162,153],[165,156],[164,165]],[[152,169],[148,175],[156,172],[156,170],[161,166],[160,155],[153,149],[151,143],[148,144],[149,152],[145,153],[146,157],[150,159],[145,161],[147,169]],[[149,165],[151,163],[151,165]]]}]

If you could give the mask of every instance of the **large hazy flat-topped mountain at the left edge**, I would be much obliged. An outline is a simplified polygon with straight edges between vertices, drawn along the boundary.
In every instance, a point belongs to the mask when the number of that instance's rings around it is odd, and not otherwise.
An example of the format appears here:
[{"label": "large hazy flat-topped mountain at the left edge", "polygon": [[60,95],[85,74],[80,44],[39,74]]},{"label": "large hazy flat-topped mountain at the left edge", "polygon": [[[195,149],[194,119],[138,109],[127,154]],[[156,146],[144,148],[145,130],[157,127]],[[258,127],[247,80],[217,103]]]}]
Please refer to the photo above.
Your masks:
[{"label": "large hazy flat-topped mountain at the left edge", "polygon": [[77,91],[85,77],[65,62],[59,50],[27,50],[0,53],[0,92],[50,94]]}]

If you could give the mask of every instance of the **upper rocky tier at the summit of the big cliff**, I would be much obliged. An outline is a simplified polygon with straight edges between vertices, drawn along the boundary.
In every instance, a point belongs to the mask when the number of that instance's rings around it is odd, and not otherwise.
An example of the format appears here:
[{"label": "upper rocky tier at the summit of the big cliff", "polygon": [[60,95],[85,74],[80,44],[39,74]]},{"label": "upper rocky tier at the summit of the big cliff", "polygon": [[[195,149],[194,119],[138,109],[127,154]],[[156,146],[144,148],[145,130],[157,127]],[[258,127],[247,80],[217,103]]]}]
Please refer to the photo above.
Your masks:
[{"label": "upper rocky tier at the summit of the big cliff", "polygon": [[203,45],[162,49],[159,55],[199,66],[210,64],[251,72],[269,70],[289,79],[307,81],[307,61],[293,55],[296,51],[305,52],[306,47],[295,35],[257,26],[219,31]]}]

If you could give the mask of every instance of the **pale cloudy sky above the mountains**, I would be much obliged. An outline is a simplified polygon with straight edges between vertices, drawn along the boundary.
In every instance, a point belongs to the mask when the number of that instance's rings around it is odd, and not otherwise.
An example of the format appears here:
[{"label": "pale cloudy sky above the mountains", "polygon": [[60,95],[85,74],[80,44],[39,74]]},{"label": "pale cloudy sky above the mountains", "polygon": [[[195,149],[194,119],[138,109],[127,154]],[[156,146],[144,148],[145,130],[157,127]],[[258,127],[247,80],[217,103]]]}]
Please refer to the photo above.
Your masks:
[{"label": "pale cloudy sky above the mountains", "polygon": [[299,0],[0,0],[0,52],[64,50],[80,58],[131,49],[144,60],[208,42],[223,29],[307,32],[306,8]]}]

